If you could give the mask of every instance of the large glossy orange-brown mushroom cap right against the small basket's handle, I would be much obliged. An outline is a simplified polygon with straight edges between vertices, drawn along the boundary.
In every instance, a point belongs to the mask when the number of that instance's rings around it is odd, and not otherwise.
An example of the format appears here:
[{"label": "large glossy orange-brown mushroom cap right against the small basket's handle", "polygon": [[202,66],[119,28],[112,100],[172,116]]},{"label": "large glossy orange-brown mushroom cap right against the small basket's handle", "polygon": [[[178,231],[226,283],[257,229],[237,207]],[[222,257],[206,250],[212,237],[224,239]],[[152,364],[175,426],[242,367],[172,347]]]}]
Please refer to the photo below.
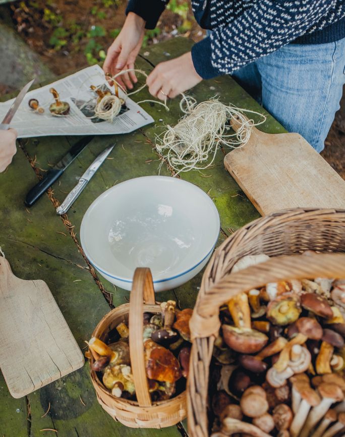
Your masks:
[{"label": "large glossy orange-brown mushroom cap right against the small basket's handle", "polygon": [[178,359],[164,347],[152,340],[144,343],[146,374],[149,379],[175,383],[182,372]]}]

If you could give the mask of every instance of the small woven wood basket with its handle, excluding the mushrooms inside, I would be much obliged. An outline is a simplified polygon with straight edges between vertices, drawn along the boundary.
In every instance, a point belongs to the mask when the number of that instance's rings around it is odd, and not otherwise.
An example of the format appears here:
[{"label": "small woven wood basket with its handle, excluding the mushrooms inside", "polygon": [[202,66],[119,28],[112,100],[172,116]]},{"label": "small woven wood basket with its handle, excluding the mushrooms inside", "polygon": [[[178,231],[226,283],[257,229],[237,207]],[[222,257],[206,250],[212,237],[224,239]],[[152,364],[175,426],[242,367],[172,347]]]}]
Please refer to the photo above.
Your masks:
[{"label": "small woven wood basket with its handle, excluding the mushrooms inside", "polygon": [[[129,322],[131,366],[138,402],[111,396],[93,370],[91,370],[91,380],[98,402],[113,419],[131,428],[164,428],[175,425],[186,417],[186,392],[167,401],[151,402],[142,341],[145,311],[160,313],[161,307],[155,302],[150,269],[137,268],[133,277],[130,303],[121,305],[106,314],[92,333],[92,337],[103,340],[106,334],[119,323]],[[90,358],[90,364],[92,362],[93,357]]]}]

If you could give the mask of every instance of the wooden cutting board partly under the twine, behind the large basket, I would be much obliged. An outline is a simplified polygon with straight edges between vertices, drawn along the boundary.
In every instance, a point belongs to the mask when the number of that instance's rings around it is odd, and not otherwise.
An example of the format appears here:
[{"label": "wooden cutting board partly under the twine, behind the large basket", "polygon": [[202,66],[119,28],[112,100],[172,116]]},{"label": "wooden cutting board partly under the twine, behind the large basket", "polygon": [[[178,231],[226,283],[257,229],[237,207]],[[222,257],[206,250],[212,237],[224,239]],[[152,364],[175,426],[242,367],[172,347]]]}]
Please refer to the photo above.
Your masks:
[{"label": "wooden cutting board partly under the twine, behind the large basket", "polygon": [[[238,122],[232,120],[238,129]],[[299,134],[265,134],[253,128],[249,142],[224,158],[261,215],[303,208],[345,209],[345,181]]]}]

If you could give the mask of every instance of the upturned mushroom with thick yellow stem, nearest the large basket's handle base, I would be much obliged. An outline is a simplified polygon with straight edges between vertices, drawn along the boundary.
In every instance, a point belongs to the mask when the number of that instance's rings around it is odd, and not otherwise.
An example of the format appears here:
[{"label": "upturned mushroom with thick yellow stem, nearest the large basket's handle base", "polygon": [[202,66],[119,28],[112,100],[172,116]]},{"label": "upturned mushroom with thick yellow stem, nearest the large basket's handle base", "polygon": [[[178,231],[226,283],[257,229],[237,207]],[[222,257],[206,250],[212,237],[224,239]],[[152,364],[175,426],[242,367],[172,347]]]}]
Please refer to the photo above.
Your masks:
[{"label": "upturned mushroom with thick yellow stem, nearest the large basket's handle base", "polygon": [[236,352],[254,354],[268,342],[268,337],[251,328],[250,307],[246,293],[240,293],[228,302],[235,326],[223,324],[224,342]]}]

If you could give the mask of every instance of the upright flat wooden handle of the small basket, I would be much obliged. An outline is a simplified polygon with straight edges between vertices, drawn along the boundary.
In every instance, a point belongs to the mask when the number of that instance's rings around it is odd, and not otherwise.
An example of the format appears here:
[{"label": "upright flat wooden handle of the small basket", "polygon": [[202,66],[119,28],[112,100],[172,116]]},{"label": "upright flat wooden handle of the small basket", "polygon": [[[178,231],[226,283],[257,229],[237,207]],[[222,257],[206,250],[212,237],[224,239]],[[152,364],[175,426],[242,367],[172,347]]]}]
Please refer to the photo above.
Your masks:
[{"label": "upright flat wooden handle of the small basket", "polygon": [[145,369],[143,343],[143,300],[146,304],[155,304],[151,270],[138,267],[133,276],[133,285],[129,308],[129,347],[135,392],[140,407],[150,407],[151,396]]}]

